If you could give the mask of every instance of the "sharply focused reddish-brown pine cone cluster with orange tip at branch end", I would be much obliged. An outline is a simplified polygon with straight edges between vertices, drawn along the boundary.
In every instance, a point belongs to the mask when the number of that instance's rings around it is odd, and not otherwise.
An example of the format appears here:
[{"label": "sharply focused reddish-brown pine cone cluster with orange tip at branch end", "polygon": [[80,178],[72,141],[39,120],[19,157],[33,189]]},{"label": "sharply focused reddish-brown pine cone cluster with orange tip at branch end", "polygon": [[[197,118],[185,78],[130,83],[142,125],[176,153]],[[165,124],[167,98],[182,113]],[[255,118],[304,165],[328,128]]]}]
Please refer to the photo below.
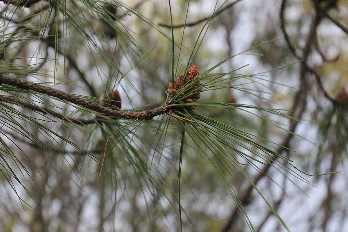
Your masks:
[{"label": "sharply focused reddish-brown pine cone cluster with orange tip at branch end", "polygon": [[[171,83],[169,83],[169,88],[167,89],[168,93],[171,94],[171,95],[175,95],[177,93],[177,91],[179,90],[179,87],[180,87],[180,83],[182,81],[182,78],[184,78],[183,82],[182,82],[182,89],[184,89],[184,87],[187,87],[190,83],[192,82],[195,82],[195,78],[198,77],[198,74],[199,74],[199,71],[198,71],[198,68],[196,65],[193,65],[190,67],[190,69],[186,72],[186,74],[184,75],[184,73],[181,73],[179,76],[177,76],[174,80],[174,86]],[[188,89],[187,91],[188,92],[191,92],[192,90],[195,90],[193,91],[192,95],[181,100],[179,102],[179,104],[183,104],[183,103],[192,103],[192,102],[197,102],[198,99],[200,98],[200,88],[198,88],[197,86],[200,86],[202,85],[202,83],[200,83],[199,81],[196,82],[194,85],[192,85],[192,87],[190,89]],[[183,95],[184,93],[182,93],[181,95]],[[196,108],[195,105],[188,105],[186,106],[187,109],[190,109],[190,110],[194,110]]]}]

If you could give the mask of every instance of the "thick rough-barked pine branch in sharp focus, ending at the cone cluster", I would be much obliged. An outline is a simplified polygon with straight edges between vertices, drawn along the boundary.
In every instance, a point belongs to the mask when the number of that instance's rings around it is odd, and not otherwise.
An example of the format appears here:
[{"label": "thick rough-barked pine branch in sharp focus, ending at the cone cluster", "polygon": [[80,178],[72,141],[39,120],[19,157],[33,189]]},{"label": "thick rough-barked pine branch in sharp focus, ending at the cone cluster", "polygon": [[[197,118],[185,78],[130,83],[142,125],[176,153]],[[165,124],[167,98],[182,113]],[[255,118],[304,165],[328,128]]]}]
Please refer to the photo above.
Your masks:
[{"label": "thick rough-barked pine branch in sharp focus, ending at the cone cluster", "polygon": [[162,107],[153,110],[145,111],[118,111],[108,107],[101,106],[95,102],[88,101],[82,97],[78,97],[64,91],[53,89],[47,86],[39,85],[30,81],[26,81],[14,77],[5,77],[0,74],[0,85],[12,85],[23,89],[29,89],[38,93],[46,94],[48,96],[57,97],[61,100],[68,101],[70,103],[80,105],[89,110],[96,111],[106,116],[118,117],[123,119],[140,119],[140,120],[151,120],[153,117],[172,112],[172,106],[165,104]]}]

